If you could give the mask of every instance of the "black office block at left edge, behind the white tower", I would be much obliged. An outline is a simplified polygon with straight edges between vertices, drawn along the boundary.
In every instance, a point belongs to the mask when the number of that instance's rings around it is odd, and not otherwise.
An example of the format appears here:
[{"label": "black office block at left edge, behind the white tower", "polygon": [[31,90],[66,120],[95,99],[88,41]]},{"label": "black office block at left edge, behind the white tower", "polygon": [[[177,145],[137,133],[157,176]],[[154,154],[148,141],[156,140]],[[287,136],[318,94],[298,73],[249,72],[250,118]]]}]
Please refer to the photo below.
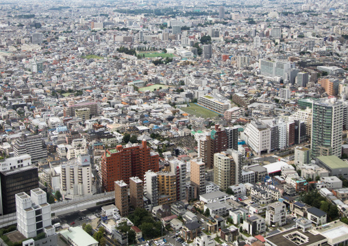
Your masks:
[{"label": "black office block at left edge, behind the white tower", "polygon": [[16,212],[17,193],[29,193],[38,188],[38,168],[32,165],[20,167],[10,171],[0,172],[1,203],[0,214]]}]

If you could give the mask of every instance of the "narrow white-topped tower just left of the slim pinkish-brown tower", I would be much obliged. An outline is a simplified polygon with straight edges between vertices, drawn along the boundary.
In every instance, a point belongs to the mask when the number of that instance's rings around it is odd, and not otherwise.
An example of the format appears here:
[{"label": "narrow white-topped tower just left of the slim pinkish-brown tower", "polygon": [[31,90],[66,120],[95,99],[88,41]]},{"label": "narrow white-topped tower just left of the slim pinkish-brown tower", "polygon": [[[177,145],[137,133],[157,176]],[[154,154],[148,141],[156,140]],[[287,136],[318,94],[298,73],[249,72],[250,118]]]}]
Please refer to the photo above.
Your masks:
[{"label": "narrow white-topped tower just left of the slim pinkish-brown tower", "polygon": [[176,175],[177,201],[186,199],[186,163],[179,160],[170,160],[171,173]]}]

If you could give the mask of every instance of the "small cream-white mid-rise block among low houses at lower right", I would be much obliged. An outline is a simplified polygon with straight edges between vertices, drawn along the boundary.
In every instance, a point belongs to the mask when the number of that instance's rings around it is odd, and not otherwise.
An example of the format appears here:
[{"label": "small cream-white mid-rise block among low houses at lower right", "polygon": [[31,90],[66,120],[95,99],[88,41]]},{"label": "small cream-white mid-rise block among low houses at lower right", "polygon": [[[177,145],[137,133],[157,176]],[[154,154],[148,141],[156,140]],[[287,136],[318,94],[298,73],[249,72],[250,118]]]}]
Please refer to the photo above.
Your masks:
[{"label": "small cream-white mid-rise block among low houses at lower right", "polygon": [[286,224],[286,207],[285,204],[274,202],[269,204],[266,210],[266,224],[269,226],[282,226]]}]

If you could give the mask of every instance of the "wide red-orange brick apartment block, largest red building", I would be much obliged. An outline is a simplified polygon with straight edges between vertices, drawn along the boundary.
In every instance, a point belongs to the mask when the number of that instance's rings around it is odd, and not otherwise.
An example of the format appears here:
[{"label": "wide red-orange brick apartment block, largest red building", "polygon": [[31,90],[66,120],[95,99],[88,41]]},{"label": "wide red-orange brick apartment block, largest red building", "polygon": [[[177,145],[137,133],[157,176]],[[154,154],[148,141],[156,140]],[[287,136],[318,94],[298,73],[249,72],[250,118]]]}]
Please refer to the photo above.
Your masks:
[{"label": "wide red-orange brick apartment block, largest red building", "polygon": [[159,171],[159,156],[151,151],[146,140],[141,145],[118,145],[107,149],[101,158],[102,188],[112,191],[116,180],[129,184],[129,177],[139,177],[141,180],[149,170]]}]

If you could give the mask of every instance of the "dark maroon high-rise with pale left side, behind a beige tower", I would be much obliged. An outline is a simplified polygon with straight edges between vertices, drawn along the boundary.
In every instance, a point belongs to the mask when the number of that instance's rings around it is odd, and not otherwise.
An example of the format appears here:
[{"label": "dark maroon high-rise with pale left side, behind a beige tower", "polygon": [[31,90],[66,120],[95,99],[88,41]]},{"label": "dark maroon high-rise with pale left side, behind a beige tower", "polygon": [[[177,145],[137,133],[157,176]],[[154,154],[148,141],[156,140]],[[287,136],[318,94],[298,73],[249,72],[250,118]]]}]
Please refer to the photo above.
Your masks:
[{"label": "dark maroon high-rise with pale left side, behind a beige tower", "polygon": [[218,124],[206,138],[199,140],[199,158],[206,163],[206,167],[214,167],[214,153],[220,153],[227,149],[226,132],[221,130]]}]

